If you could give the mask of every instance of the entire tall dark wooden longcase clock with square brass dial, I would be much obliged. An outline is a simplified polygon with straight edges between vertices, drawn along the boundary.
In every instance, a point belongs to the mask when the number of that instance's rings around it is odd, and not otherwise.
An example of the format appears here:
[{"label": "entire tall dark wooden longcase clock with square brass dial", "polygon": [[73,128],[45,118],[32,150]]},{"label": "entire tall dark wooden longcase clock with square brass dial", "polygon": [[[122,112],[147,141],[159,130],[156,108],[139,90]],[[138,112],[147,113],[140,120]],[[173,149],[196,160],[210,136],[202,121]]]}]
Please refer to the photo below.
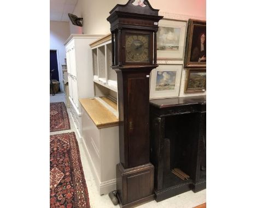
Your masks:
[{"label": "entire tall dark wooden longcase clock with square brass dial", "polygon": [[162,16],[148,0],[117,4],[107,20],[112,33],[112,69],[118,77],[119,154],[117,197],[121,207],[154,199],[149,162],[149,76],[156,68],[156,32]]}]

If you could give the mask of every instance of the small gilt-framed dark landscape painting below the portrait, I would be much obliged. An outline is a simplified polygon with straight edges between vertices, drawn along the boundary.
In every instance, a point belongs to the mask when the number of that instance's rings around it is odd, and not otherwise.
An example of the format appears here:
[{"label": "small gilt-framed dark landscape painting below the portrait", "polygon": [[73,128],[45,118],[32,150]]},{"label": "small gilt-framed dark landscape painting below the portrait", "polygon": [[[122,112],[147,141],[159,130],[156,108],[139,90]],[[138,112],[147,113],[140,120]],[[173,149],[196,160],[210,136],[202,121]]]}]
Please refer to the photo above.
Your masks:
[{"label": "small gilt-framed dark landscape painting below the portrait", "polygon": [[206,69],[189,69],[185,83],[184,93],[206,91]]}]

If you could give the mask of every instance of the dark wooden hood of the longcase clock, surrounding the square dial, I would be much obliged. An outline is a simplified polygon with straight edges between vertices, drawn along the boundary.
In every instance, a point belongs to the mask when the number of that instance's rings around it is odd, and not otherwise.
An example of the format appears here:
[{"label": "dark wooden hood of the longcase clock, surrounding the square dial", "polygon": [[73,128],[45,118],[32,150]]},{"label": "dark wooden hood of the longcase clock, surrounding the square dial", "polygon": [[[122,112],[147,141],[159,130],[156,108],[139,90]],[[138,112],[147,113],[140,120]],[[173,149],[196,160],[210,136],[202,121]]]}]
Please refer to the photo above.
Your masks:
[{"label": "dark wooden hood of the longcase clock, surrounding the square dial", "polygon": [[[153,9],[145,0],[146,7],[135,6],[132,0],[125,5],[117,4],[111,11],[107,21],[110,23],[112,33],[112,66],[123,65],[157,65],[156,64],[156,33],[158,22],[163,16],[159,16],[159,9]],[[126,62],[125,35],[129,33],[149,34],[149,61]]]}]

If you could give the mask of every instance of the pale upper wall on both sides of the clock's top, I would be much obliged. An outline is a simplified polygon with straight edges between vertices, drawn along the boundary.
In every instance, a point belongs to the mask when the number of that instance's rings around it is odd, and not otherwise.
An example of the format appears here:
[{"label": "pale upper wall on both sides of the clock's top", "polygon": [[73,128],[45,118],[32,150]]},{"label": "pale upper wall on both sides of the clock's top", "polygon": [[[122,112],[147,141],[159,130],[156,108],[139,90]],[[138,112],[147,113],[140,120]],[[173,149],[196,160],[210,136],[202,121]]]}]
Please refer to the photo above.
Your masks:
[{"label": "pale upper wall on both sides of the clock's top", "polygon": [[[73,14],[83,17],[83,28],[71,26],[72,33],[108,34],[110,24],[106,20],[109,11],[117,4],[126,4],[128,0],[78,0]],[[174,14],[185,14],[206,18],[206,0],[149,0],[154,9]]]}]

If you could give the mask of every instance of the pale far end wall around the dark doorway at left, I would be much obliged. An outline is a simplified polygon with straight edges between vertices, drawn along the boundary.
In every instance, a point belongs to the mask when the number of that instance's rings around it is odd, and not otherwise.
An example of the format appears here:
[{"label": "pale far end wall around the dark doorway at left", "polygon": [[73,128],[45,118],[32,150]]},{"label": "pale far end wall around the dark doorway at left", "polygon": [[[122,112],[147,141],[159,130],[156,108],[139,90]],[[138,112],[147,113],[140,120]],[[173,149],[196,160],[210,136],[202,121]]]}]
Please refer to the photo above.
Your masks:
[{"label": "pale far end wall around the dark doorway at left", "polygon": [[66,58],[64,42],[68,39],[69,35],[70,29],[68,22],[50,21],[50,50],[57,50],[61,91],[64,91],[61,67],[61,64],[65,64]]}]

